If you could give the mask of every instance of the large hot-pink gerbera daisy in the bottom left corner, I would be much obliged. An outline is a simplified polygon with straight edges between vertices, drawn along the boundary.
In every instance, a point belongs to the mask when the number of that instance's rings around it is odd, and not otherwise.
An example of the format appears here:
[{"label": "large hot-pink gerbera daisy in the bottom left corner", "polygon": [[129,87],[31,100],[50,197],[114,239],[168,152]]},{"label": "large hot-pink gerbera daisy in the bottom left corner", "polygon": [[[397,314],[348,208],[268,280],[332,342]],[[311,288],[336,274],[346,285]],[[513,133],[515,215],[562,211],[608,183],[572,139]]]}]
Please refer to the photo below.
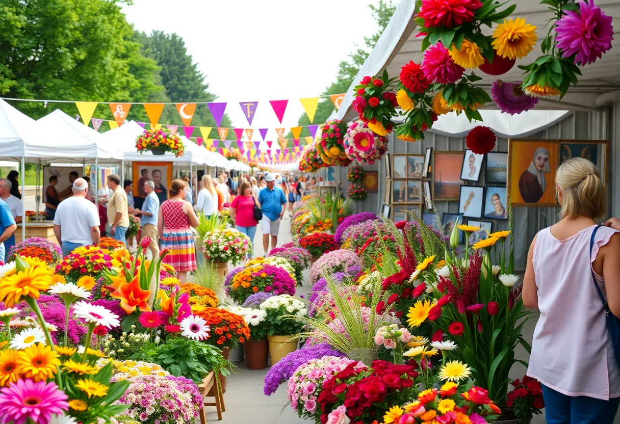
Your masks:
[{"label": "large hot-pink gerbera daisy in the bottom left corner", "polygon": [[55,382],[17,380],[0,391],[0,422],[47,424],[51,415],[69,409],[68,396]]}]

